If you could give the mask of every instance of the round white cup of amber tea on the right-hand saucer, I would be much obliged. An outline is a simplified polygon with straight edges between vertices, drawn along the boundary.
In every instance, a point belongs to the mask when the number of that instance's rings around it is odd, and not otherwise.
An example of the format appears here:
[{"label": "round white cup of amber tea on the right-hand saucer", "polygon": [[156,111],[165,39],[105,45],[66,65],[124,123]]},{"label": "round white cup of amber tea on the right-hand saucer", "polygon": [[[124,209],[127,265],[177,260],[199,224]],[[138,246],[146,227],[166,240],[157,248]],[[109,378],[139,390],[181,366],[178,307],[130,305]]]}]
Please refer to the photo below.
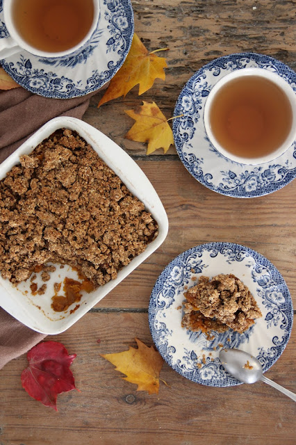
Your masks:
[{"label": "round white cup of amber tea on the right-hand saucer", "polygon": [[296,96],[275,72],[242,68],[226,74],[206,99],[204,125],[215,149],[256,165],[276,159],[296,138]]}]

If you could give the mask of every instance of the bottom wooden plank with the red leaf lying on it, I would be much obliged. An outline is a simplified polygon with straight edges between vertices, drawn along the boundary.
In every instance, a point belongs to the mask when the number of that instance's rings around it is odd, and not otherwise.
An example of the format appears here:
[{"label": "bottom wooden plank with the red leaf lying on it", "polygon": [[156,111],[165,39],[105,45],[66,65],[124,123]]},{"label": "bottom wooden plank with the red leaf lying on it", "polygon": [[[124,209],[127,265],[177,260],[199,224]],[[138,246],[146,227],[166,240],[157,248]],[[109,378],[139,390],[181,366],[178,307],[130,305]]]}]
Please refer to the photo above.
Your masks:
[{"label": "bottom wooden plank with the red leaf lying on it", "polygon": [[[268,385],[212,388],[197,385],[167,364],[161,371],[170,387],[158,395],[135,391],[99,353],[148,345],[147,314],[87,314],[64,334],[79,394],[58,396],[58,414],[22,389],[25,357],[7,364],[0,378],[0,443],[3,445],[292,445],[295,403]],[[101,343],[97,343],[101,339]],[[267,376],[295,390],[295,332]]]}]

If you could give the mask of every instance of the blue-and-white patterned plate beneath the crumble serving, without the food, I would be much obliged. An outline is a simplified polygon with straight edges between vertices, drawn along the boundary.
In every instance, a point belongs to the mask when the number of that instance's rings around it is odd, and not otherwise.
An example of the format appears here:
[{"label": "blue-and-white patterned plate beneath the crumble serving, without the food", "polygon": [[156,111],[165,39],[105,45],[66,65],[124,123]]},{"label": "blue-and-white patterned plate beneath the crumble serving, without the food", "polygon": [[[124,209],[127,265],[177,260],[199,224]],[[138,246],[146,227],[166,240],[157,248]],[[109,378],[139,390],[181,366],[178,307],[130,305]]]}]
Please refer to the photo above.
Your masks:
[{"label": "blue-and-white patterned plate beneath the crumble serving, without the food", "polygon": [[[233,273],[248,286],[263,314],[238,334],[191,332],[181,327],[183,293],[201,275]],[[193,280],[192,280],[193,278]],[[238,348],[257,357],[267,371],[283,352],[293,324],[293,305],[283,277],[261,254],[243,245],[207,243],[183,252],[163,270],[151,293],[149,327],[159,352],[172,369],[193,382],[231,387],[219,360],[221,348]]]}]

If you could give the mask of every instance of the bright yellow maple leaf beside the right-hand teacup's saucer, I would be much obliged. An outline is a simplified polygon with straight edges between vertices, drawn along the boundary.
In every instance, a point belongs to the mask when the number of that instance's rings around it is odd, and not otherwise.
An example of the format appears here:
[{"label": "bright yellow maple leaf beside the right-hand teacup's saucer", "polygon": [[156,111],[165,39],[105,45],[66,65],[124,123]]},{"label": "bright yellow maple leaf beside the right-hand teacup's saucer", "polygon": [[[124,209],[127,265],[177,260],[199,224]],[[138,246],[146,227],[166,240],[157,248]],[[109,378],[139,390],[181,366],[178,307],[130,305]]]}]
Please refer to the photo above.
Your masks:
[{"label": "bright yellow maple leaf beside the right-hand teacup's saucer", "polygon": [[155,102],[149,104],[143,101],[142,106],[127,110],[126,114],[136,122],[125,137],[138,142],[148,142],[147,154],[158,148],[163,148],[166,153],[170,145],[174,144],[172,129]]}]

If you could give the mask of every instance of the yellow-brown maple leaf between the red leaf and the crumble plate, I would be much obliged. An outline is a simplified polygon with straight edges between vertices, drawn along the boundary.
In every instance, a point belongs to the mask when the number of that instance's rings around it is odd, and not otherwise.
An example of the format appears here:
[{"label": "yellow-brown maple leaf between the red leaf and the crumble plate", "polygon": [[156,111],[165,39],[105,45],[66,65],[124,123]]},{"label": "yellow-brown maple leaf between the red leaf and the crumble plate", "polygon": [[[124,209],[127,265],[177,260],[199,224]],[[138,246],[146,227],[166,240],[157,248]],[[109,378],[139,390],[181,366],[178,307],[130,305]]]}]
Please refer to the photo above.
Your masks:
[{"label": "yellow-brown maple leaf between the red leaf and the crumble plate", "polygon": [[116,366],[116,371],[125,374],[122,377],[127,382],[138,385],[137,391],[148,391],[149,394],[158,394],[159,373],[163,366],[161,355],[153,346],[150,348],[142,341],[135,339],[138,349],[129,347],[122,353],[100,354]]}]

